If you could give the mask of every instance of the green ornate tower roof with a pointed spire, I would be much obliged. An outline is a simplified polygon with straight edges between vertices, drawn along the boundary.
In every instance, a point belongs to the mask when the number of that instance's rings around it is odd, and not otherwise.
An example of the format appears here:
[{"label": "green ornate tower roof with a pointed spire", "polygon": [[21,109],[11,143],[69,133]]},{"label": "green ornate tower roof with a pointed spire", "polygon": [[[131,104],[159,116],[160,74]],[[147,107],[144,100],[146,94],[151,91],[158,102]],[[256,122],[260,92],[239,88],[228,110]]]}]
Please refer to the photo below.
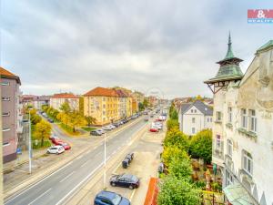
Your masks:
[{"label": "green ornate tower roof with a pointed spire", "polygon": [[217,62],[220,65],[219,70],[217,72],[216,77],[213,77],[205,83],[217,83],[217,82],[225,82],[230,80],[238,80],[243,77],[243,73],[241,68],[239,67],[239,63],[242,62],[240,58],[234,56],[232,52],[232,43],[230,33],[228,36],[228,44],[227,44],[227,55],[223,60]]}]

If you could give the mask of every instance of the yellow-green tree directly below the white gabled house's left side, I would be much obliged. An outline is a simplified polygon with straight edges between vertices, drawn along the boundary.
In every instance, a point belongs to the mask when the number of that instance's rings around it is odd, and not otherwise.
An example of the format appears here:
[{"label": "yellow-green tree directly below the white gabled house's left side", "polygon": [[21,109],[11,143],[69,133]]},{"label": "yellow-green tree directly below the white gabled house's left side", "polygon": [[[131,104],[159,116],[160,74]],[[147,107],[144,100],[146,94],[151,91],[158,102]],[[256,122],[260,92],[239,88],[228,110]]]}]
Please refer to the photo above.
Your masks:
[{"label": "yellow-green tree directly below the white gabled house's left side", "polygon": [[172,128],[167,131],[166,138],[164,138],[164,146],[177,147],[188,151],[189,140],[187,135],[181,132],[178,128]]}]

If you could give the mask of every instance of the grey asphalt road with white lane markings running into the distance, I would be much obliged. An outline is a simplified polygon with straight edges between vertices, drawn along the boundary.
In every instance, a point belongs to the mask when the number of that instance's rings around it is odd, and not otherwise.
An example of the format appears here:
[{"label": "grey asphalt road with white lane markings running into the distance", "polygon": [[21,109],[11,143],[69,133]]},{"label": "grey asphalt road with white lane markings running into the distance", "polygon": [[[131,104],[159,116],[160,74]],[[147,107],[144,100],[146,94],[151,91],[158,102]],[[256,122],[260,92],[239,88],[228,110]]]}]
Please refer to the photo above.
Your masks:
[{"label": "grey asphalt road with white lane markings running into the distance", "polygon": [[[110,159],[143,128],[146,122],[140,120],[106,141],[106,159]],[[103,137],[101,137],[103,138]],[[29,189],[22,190],[14,198],[5,201],[6,205],[51,205],[62,204],[74,191],[90,179],[97,169],[103,166],[104,143],[86,152],[58,169]]]}]

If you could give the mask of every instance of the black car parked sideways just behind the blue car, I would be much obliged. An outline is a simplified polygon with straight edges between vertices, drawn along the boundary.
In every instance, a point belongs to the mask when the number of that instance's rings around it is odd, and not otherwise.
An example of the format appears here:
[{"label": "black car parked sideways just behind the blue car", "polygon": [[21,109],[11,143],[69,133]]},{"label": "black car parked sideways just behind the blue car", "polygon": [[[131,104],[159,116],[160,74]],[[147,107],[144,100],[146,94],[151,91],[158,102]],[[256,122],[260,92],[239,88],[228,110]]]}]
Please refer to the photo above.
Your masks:
[{"label": "black car parked sideways just behind the blue car", "polygon": [[139,179],[131,174],[114,175],[110,179],[110,184],[113,187],[125,187],[133,190],[139,187]]}]

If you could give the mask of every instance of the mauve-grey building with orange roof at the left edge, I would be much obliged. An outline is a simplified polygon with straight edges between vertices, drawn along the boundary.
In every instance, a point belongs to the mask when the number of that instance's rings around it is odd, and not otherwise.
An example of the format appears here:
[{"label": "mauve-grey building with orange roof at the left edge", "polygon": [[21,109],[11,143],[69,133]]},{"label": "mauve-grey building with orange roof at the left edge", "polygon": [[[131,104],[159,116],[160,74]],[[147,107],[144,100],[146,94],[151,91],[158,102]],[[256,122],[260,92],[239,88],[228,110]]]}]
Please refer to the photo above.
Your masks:
[{"label": "mauve-grey building with orange roof at the left edge", "polygon": [[0,67],[2,93],[3,160],[16,159],[18,134],[22,133],[22,107],[19,104],[20,78]]}]

